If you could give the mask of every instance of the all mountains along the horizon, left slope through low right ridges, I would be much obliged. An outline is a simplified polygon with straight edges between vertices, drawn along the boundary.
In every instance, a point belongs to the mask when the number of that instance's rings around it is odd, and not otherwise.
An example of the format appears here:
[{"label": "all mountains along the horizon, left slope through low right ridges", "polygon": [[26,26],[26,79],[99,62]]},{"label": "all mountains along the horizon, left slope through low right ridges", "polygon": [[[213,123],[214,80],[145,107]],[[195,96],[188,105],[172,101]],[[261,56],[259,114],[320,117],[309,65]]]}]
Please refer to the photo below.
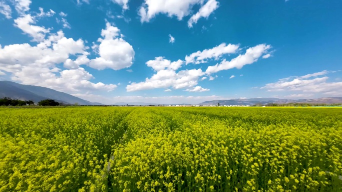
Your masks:
[{"label": "all mountains along the horizon, left slope through low right ridges", "polygon": [[[53,89],[33,86],[33,85],[21,85],[11,81],[0,81],[0,98],[10,97],[12,99],[20,100],[33,100],[35,103],[44,99],[53,99],[65,104],[79,105],[103,105],[101,103],[94,103],[80,99],[78,97],[55,91]],[[267,104],[267,103],[342,103],[342,97],[323,97],[318,99],[278,99],[278,98],[251,98],[251,99],[230,99],[230,100],[213,100],[204,101],[198,105],[255,105],[255,104]],[[158,103],[144,103],[144,102],[118,102],[113,105],[158,105]],[[168,106],[169,104],[161,104]],[[177,105],[177,104],[170,104]],[[178,104],[178,105],[184,105]],[[188,104],[185,104],[188,105]]]}]

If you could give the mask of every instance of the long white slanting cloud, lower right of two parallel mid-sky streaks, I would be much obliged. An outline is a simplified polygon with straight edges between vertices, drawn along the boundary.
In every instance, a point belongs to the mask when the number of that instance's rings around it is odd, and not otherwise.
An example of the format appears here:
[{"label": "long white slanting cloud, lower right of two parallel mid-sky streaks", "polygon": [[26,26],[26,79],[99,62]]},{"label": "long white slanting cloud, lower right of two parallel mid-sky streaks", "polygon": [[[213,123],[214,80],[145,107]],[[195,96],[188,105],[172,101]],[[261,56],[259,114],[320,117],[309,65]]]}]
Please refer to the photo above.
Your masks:
[{"label": "long white slanting cloud, lower right of two parallel mid-sky streaks", "polygon": [[271,46],[266,45],[266,44],[259,44],[254,47],[250,47],[246,50],[245,54],[238,55],[237,57],[231,59],[231,61],[226,61],[225,59],[223,59],[223,61],[221,61],[221,63],[219,64],[208,66],[205,73],[210,74],[210,73],[215,73],[221,70],[228,70],[232,68],[240,69],[244,65],[252,64],[256,62],[258,58],[263,53],[267,52],[267,50],[270,48]]}]

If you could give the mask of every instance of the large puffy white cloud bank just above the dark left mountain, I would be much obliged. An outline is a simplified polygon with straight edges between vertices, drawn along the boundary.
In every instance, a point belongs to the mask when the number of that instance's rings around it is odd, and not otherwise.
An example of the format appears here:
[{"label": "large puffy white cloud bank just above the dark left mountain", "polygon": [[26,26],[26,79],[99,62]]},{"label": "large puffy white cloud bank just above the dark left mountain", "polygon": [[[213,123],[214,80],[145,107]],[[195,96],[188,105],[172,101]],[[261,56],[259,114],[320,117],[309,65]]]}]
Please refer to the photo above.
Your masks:
[{"label": "large puffy white cloud bank just above the dark left mountain", "polygon": [[[13,81],[64,92],[111,91],[116,88],[113,84],[90,82],[93,76],[78,66],[87,62],[83,41],[61,36],[54,35],[49,38],[50,41],[46,40],[37,46],[12,44],[0,48],[0,70],[10,73]],[[70,55],[78,57],[73,61],[68,58]],[[63,61],[64,67],[69,69],[56,67]]]}]

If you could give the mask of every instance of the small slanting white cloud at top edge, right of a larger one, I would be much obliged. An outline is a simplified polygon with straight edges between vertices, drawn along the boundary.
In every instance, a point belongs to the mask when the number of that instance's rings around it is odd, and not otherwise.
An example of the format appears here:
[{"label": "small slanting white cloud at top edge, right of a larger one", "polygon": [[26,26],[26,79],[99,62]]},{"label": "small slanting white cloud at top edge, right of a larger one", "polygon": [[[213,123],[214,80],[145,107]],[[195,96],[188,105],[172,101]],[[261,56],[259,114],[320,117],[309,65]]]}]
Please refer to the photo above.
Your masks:
[{"label": "small slanting white cloud at top edge, right of a larger one", "polygon": [[216,0],[208,0],[202,7],[199,8],[198,12],[190,17],[187,21],[187,26],[192,27],[193,23],[197,23],[200,17],[208,18],[208,16],[218,8],[218,2]]}]

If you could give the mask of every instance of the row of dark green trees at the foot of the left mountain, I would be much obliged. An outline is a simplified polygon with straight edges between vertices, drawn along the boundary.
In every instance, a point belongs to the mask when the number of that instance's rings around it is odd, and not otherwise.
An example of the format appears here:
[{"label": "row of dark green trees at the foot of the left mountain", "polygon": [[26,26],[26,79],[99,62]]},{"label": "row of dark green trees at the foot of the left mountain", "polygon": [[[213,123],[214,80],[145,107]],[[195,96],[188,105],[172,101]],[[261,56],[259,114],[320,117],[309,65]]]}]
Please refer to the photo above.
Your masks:
[{"label": "row of dark green trees at the foot of the left mountain", "polygon": [[[60,103],[54,101],[53,99],[44,99],[37,103],[40,106],[58,106]],[[12,99],[9,97],[3,97],[0,99],[0,106],[24,106],[24,105],[34,105],[33,100],[23,101],[19,99]]]}]

